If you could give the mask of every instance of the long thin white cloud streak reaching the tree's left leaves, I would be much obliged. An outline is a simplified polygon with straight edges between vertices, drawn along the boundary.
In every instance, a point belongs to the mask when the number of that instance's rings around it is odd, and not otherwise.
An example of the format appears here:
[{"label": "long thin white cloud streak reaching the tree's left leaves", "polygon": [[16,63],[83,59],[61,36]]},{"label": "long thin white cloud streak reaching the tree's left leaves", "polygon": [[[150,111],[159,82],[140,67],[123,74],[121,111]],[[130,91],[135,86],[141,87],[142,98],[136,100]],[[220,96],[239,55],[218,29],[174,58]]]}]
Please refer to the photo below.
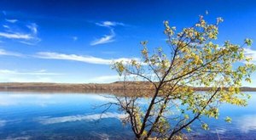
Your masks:
[{"label": "long thin white cloud streak reaching the tree's left leaves", "polygon": [[102,59],[102,58],[96,58],[93,56],[82,56],[82,55],[76,55],[76,54],[65,54],[65,53],[54,53],[54,52],[39,52],[34,57],[39,59],[73,60],[73,61],[79,61],[79,62],[84,62],[89,64],[112,64],[113,61],[123,60],[124,62],[127,62],[127,61],[131,61],[131,59],[137,59],[137,58]]}]

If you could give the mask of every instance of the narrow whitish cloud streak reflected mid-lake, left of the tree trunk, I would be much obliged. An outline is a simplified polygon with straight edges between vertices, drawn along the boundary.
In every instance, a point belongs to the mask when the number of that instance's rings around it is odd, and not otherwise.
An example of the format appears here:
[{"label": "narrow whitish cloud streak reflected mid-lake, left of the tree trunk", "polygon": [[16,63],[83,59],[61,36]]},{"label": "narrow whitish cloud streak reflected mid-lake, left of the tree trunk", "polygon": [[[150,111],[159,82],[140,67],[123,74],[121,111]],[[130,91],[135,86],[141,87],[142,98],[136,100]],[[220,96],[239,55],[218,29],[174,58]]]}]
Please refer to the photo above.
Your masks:
[{"label": "narrow whitish cloud streak reflected mid-lake, left of the tree trunk", "polygon": [[65,123],[65,122],[73,122],[73,121],[94,121],[94,120],[100,120],[105,118],[116,118],[116,119],[122,119],[125,118],[126,115],[118,114],[118,113],[111,113],[107,112],[105,114],[94,114],[94,115],[69,115],[69,116],[62,116],[62,117],[40,117],[36,120],[39,121],[39,123],[43,125],[50,125],[50,124],[56,124],[56,123]]}]

